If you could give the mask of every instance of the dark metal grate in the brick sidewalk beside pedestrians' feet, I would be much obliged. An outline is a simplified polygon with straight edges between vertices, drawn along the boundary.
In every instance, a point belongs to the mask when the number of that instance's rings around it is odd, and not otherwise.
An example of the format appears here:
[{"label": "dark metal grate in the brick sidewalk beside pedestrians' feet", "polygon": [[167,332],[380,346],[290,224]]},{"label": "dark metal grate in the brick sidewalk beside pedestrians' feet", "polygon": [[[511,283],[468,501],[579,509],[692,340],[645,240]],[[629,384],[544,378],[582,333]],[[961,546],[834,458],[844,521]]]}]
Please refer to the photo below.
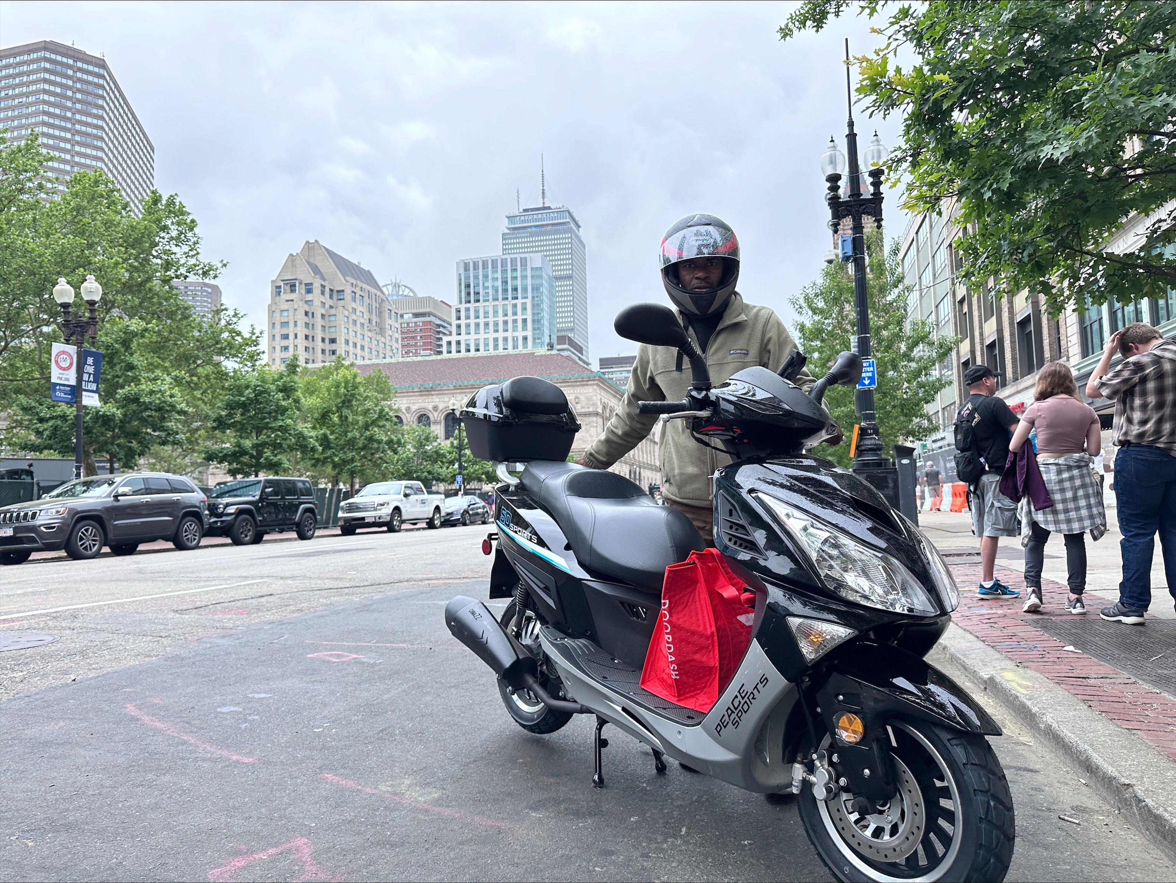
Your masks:
[{"label": "dark metal grate in the brick sidewalk beside pedestrians' feet", "polygon": [[1169,696],[1176,696],[1176,620],[1148,620],[1147,626],[1123,626],[1100,620],[1093,608],[1082,617],[1042,617],[1033,624],[1063,644]]}]

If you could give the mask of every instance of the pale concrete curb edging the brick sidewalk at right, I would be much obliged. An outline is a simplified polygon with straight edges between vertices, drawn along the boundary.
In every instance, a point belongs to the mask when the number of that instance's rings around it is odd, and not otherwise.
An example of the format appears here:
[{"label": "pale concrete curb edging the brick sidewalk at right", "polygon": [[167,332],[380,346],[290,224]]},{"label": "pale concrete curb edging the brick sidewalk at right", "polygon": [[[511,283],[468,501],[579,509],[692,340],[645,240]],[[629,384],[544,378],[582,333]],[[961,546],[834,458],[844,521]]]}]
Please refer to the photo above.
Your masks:
[{"label": "pale concrete curb edging the brick sidewalk at right", "polygon": [[955,623],[928,661],[958,665],[983,684],[1021,723],[1055,745],[1136,831],[1176,861],[1176,762]]}]

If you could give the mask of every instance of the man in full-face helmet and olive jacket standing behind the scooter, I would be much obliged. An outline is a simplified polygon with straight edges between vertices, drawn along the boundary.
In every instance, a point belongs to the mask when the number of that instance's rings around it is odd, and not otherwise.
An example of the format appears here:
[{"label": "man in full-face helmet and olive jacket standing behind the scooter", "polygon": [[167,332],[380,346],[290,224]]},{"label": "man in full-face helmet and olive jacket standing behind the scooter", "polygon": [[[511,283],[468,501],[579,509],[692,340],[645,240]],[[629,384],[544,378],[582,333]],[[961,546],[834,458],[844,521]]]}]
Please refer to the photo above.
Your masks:
[{"label": "man in full-face helmet and olive jacket standing behind the scooter", "polygon": [[[756,364],[779,370],[796,348],[780,316],[769,307],[746,303],[735,290],[739,266],[735,232],[714,215],[683,218],[662,240],[662,283],[682,326],[706,355],[715,384]],[[674,347],[640,344],[621,407],[580,463],[607,469],[641,443],[657,416],[637,414],[637,402],[686,397],[690,373],[688,364],[683,372],[682,362]],[[813,377],[802,370],[796,382],[808,389]],[[660,454],[662,499],[686,513],[710,543],[710,476],[730,457],[699,444],[684,421],[666,424]]]}]

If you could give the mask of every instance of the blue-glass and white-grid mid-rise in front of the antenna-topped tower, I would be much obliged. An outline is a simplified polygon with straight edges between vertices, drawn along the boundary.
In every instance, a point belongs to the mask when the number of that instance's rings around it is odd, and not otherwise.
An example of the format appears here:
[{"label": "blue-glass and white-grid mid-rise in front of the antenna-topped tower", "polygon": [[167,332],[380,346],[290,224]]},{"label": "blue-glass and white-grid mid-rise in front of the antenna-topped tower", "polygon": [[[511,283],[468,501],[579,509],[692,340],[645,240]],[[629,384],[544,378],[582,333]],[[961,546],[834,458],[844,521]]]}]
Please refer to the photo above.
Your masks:
[{"label": "blue-glass and white-grid mid-rise in front of the antenna-topped tower", "polygon": [[552,263],[537,252],[457,261],[459,306],[445,352],[555,349],[556,290]]}]

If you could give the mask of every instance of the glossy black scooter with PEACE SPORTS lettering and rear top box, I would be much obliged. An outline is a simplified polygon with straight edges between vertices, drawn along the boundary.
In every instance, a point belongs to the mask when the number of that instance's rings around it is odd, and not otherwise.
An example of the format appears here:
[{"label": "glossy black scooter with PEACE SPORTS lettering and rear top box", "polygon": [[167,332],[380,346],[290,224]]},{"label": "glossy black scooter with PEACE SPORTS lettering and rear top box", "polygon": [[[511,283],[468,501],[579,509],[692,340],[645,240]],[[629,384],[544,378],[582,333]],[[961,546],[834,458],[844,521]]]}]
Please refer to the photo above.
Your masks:
[{"label": "glossy black scooter with PEACE SPORTS lettering and rear top box", "polygon": [[[734,462],[714,476],[714,542],[756,593],[753,640],[706,714],[640,685],[666,567],[702,549],[682,513],[632,481],[567,463],[580,429],[559,387],[515,377],[461,413],[475,456],[500,462],[492,598],[501,618],[455,597],[446,623],[497,675],[523,729],[596,717],[663,756],[749,791],[799,795],[822,861],[842,881],[1001,881],[1015,835],[1008,782],[984,738],[993,718],[923,656],[960,593],[938,551],[868,483],[808,449],[837,426],[821,401],[854,384],[842,353],[806,394],[748,368],[711,387],[671,310],[636,305],[616,332],[676,347],[691,387],[644,414],[688,421]],[[524,462],[515,477],[507,463]],[[496,549],[493,541],[497,541]]]}]

